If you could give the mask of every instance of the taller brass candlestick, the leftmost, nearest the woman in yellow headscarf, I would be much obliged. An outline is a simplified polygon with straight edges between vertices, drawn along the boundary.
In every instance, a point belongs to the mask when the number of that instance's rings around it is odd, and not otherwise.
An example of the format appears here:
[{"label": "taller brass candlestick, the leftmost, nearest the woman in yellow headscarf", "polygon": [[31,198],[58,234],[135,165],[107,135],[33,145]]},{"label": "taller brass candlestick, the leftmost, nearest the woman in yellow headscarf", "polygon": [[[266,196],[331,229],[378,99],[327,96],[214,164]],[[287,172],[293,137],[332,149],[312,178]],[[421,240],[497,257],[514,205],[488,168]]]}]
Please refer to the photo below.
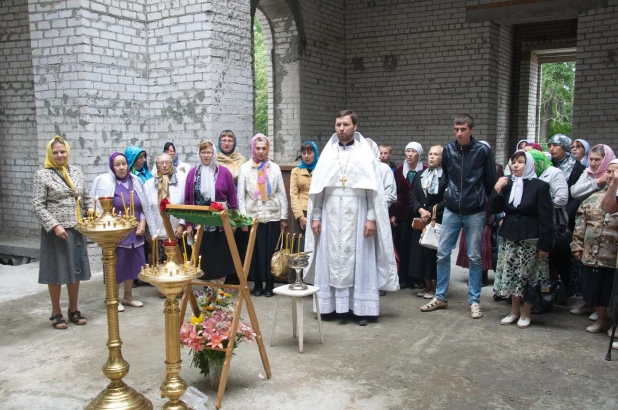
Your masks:
[{"label": "taller brass candlestick, the leftmost, nearest the woman in yellow headscarf", "polygon": [[122,378],[129,373],[129,363],[122,357],[122,340],[118,326],[118,299],[116,298],[116,253],[118,243],[137,226],[133,216],[112,215],[113,198],[99,198],[103,215],[97,217],[96,209],[78,222],[75,228],[89,237],[103,250],[105,273],[105,305],[107,307],[107,348],[109,355],[103,365],[103,374],[111,383],[86,409],[139,409],[151,410],[152,403],[141,393],[129,387]]}]

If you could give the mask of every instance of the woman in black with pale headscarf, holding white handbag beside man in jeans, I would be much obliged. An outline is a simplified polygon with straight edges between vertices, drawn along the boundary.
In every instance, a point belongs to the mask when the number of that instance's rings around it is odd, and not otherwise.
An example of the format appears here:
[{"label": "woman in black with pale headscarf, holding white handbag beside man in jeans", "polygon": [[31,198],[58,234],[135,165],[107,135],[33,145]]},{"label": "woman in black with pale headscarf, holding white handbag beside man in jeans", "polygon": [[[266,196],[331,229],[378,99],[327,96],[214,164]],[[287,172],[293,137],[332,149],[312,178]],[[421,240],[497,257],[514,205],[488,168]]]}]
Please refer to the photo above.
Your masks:
[{"label": "woman in black with pale headscarf, holding white handbag beside man in jeans", "polygon": [[[412,214],[421,218],[425,225],[431,221],[434,206],[436,207],[436,222],[442,223],[444,213],[444,191],[446,190],[446,178],[442,174],[442,147],[434,145],[427,154],[429,168],[421,171],[416,177],[418,181],[412,188],[412,198],[410,205]],[[421,238],[420,230],[412,232],[412,243],[418,243]],[[437,249],[430,249],[419,246],[416,259],[411,262],[416,263],[416,271],[423,275],[425,289],[416,296],[425,299],[433,299],[436,292],[437,270]],[[410,254],[412,258],[412,253]]]}]

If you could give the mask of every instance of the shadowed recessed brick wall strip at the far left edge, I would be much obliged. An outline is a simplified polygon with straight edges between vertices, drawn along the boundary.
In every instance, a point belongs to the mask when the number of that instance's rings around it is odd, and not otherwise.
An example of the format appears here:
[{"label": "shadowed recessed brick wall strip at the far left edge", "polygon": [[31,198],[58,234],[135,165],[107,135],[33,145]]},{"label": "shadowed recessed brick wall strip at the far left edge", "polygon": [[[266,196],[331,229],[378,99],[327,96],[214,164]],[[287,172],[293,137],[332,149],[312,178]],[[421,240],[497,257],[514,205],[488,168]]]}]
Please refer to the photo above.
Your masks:
[{"label": "shadowed recessed brick wall strip at the far left edge", "polygon": [[38,232],[30,212],[32,177],[39,166],[28,1],[0,3],[0,226]]}]

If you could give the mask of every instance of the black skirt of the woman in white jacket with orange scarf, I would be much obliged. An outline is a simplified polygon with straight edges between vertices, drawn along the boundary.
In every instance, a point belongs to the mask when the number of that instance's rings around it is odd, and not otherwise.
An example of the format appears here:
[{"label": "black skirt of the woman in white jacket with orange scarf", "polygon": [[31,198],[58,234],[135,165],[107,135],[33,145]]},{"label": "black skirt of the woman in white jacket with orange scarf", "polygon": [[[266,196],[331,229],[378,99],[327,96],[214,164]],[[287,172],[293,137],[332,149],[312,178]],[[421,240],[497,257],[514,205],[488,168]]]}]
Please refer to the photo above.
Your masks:
[{"label": "black skirt of the woman in white jacket with orange scarf", "polygon": [[270,260],[275,253],[275,246],[277,246],[280,233],[281,224],[279,221],[258,224],[249,280],[264,282],[273,279],[270,272]]}]

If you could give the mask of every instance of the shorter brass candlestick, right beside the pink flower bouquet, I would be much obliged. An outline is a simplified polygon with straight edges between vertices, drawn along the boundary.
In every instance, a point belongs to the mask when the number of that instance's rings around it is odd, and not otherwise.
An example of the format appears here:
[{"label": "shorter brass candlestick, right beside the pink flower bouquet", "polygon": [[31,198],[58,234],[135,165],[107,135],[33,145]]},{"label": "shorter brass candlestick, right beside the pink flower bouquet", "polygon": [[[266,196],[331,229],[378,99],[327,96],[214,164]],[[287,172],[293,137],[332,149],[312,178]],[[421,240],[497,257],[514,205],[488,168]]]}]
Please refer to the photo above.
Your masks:
[{"label": "shorter brass candlestick, right beside the pink flower bouquet", "polygon": [[138,278],[159,289],[167,299],[165,300],[165,380],[161,384],[161,397],[169,401],[163,406],[164,410],[188,409],[180,397],[187,390],[187,383],[180,377],[180,318],[176,295],[183,291],[186,284],[202,276],[202,271],[187,261],[180,265],[176,262],[176,247],[178,242],[167,240],[163,243],[167,262],[163,265],[147,266],[142,268]]}]

